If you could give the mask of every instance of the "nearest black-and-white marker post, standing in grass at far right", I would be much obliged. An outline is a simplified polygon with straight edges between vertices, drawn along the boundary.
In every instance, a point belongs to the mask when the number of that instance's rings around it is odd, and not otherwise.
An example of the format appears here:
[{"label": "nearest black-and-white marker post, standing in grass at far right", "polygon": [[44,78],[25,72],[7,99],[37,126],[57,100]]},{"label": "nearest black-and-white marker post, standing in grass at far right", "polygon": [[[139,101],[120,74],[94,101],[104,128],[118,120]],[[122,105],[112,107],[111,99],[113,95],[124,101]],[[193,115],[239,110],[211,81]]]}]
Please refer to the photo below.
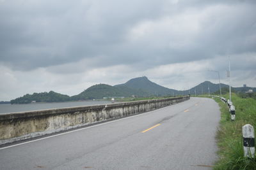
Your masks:
[{"label": "nearest black-and-white marker post, standing in grass at far right", "polygon": [[250,124],[243,126],[243,145],[244,145],[244,157],[254,158],[255,154],[255,139],[254,129]]}]

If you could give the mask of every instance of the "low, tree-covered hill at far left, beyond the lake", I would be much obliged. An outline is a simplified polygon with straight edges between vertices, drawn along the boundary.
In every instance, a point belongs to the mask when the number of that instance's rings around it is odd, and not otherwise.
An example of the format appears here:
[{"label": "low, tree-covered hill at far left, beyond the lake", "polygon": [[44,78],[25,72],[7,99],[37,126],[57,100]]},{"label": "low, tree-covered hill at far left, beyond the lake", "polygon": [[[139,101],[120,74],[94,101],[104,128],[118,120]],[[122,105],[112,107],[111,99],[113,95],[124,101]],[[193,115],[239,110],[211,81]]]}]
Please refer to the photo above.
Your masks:
[{"label": "low, tree-covered hill at far left, beyond the lake", "polygon": [[26,103],[32,103],[32,101],[49,102],[49,103],[63,102],[63,101],[70,101],[70,97],[67,95],[53,92],[53,91],[33,93],[33,94],[26,94],[23,97],[18,97],[17,99],[13,99],[11,101],[11,104],[26,104]]}]

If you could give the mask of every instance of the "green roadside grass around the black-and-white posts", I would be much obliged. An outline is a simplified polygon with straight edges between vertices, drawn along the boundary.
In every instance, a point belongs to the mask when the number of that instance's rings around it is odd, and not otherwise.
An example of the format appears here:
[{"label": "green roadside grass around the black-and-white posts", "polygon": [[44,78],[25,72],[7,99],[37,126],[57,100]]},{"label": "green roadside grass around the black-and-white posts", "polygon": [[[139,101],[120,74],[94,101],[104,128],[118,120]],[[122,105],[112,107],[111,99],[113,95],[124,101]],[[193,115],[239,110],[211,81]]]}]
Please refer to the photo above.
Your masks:
[{"label": "green roadside grass around the black-and-white posts", "polygon": [[[228,95],[224,96],[228,99]],[[242,99],[232,94],[232,103],[236,107],[236,120],[231,122],[227,104],[215,98],[220,105],[221,120],[216,139],[218,141],[219,160],[213,169],[248,169],[256,170],[256,154],[254,159],[244,158],[242,127],[253,125],[256,130],[256,100]]]}]

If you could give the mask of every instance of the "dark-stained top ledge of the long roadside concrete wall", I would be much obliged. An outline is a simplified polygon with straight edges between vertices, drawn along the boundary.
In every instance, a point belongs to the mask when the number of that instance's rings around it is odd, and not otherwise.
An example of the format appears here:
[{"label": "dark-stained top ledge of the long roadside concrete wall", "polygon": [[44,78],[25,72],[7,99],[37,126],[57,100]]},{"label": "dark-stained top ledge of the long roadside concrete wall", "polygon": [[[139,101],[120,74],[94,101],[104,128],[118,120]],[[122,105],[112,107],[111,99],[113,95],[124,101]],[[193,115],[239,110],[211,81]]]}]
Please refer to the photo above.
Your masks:
[{"label": "dark-stained top ledge of the long roadside concrete wall", "polygon": [[39,116],[45,116],[45,115],[75,113],[77,111],[86,111],[86,110],[102,110],[104,108],[115,108],[115,107],[120,107],[120,106],[129,106],[129,105],[132,106],[134,104],[154,103],[154,102],[169,101],[169,100],[173,100],[173,99],[182,99],[182,98],[184,98],[184,97],[152,99],[152,100],[145,100],[145,101],[132,101],[132,102],[125,102],[125,103],[99,104],[99,105],[92,105],[92,106],[76,106],[76,107],[70,107],[70,108],[55,108],[55,109],[49,109],[49,110],[3,113],[3,114],[0,114],[0,121],[13,119],[13,118],[39,117]]}]

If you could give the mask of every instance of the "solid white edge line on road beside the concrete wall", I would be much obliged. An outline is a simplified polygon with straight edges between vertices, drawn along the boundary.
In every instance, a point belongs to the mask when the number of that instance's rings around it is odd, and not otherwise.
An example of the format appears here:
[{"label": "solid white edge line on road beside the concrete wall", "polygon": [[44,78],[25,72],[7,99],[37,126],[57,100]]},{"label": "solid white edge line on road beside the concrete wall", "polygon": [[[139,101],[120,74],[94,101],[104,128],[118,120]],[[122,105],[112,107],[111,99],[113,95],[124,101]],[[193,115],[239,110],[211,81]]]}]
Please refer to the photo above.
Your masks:
[{"label": "solid white edge line on road beside the concrete wall", "polygon": [[[183,102],[182,102],[182,103],[183,103]],[[180,104],[180,103],[177,103],[177,104]],[[97,125],[91,125],[91,126],[89,126],[89,127],[84,127],[84,128],[81,128],[81,129],[76,129],[76,130],[73,130],[73,131],[63,132],[63,133],[61,133],[61,134],[55,134],[55,135],[52,135],[52,136],[47,136],[47,137],[45,137],[45,138],[35,139],[35,140],[27,141],[27,142],[24,142],[24,143],[18,143],[18,144],[16,144],[16,145],[5,146],[5,147],[3,147],[3,148],[0,148],[0,150],[4,150],[4,149],[6,149],[6,148],[12,148],[12,147],[14,147],[14,146],[24,145],[24,144],[27,144],[27,143],[32,143],[32,142],[35,142],[35,141],[40,141],[40,140],[43,140],[43,139],[53,138],[53,137],[55,137],[55,136],[60,136],[60,135],[63,135],[63,134],[69,134],[69,133],[71,133],[71,132],[82,131],[82,130],[84,130],[84,129],[89,129],[89,128],[96,127],[96,126],[99,126],[99,125],[110,124],[110,123],[112,123],[112,122],[117,122],[117,121],[124,120],[124,119],[127,119],[127,118],[138,117],[138,116],[140,116],[140,115],[144,115],[144,114],[147,114],[147,113],[152,113],[152,112],[154,112],[154,111],[163,110],[163,109],[169,108],[169,107],[174,106],[174,105],[177,105],[177,104],[172,104],[172,105],[170,105],[170,106],[166,106],[166,107],[164,107],[164,108],[159,108],[159,109],[157,109],[157,110],[147,111],[147,112],[145,112],[145,113],[138,113],[137,115],[133,115],[133,116],[125,117],[125,118],[120,118],[120,119],[118,119],[118,120],[112,120],[112,121],[109,121],[109,122],[105,122],[105,123],[101,123],[101,124],[97,124]]]}]

